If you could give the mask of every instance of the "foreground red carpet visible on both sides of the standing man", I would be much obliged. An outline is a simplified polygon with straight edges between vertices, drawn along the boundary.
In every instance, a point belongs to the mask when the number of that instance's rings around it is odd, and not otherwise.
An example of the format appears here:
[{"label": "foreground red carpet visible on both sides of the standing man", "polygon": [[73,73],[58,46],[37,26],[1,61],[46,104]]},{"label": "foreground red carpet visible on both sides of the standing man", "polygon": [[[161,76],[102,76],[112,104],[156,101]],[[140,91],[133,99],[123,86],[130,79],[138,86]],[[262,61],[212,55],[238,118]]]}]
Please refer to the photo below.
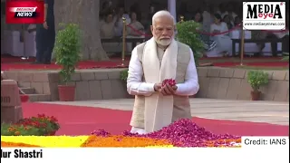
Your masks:
[{"label": "foreground red carpet visible on both sides of the standing man", "polygon": [[[113,134],[119,134],[131,129],[131,111],[108,110],[101,108],[23,103],[24,117],[44,113],[55,116],[61,123],[58,135],[90,134],[94,129],[105,129]],[[230,133],[240,136],[288,136],[288,126],[268,123],[254,123],[232,120],[208,120],[193,118],[198,125],[217,134]]]}]

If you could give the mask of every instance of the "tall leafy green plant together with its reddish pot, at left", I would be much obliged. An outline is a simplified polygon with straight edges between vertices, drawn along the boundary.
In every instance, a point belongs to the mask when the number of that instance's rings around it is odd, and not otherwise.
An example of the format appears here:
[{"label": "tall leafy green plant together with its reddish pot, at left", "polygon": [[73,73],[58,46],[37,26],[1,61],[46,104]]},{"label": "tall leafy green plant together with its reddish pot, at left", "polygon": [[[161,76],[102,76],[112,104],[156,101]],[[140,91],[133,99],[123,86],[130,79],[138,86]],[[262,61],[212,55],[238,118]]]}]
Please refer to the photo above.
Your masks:
[{"label": "tall leafy green plant together with its reddish pot, at left", "polygon": [[56,35],[54,54],[56,64],[62,66],[59,72],[61,84],[58,85],[60,101],[74,101],[75,86],[68,85],[80,61],[81,32],[77,24],[64,24]]}]

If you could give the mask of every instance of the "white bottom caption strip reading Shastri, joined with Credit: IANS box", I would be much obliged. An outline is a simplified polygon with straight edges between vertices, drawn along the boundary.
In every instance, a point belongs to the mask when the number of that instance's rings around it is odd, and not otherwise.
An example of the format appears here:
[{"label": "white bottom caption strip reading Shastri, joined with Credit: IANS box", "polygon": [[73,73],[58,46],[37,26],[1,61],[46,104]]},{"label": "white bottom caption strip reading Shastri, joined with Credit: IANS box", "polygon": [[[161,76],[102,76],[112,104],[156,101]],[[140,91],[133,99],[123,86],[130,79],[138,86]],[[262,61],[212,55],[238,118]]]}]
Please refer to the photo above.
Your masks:
[{"label": "white bottom caption strip reading Shastri, joined with Credit: IANS box", "polygon": [[[40,142],[39,142],[40,143]],[[256,149],[256,147],[260,147]],[[289,162],[288,137],[243,137],[235,148],[1,148],[1,163]]]}]

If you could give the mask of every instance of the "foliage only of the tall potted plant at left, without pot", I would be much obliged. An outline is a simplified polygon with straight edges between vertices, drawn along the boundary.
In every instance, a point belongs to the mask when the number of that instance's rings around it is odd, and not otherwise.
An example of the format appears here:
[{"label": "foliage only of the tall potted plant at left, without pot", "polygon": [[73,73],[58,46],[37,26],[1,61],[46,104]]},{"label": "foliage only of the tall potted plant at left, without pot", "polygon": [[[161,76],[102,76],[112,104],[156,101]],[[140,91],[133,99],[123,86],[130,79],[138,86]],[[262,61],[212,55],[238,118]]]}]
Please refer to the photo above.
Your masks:
[{"label": "foliage only of the tall potted plant at left, without pot", "polygon": [[61,24],[63,29],[56,35],[54,53],[56,63],[62,66],[61,82],[67,84],[80,61],[81,30],[77,24]]}]

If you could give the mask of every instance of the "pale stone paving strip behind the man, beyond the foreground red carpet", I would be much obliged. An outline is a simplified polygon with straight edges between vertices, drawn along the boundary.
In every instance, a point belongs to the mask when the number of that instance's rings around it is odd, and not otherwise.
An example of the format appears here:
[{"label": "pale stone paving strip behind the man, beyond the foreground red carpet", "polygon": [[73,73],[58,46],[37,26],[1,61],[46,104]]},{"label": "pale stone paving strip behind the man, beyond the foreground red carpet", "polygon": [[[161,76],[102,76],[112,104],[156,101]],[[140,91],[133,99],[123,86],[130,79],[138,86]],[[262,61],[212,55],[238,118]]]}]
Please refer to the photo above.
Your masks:
[{"label": "pale stone paving strip behind the man, beyond the foreground red carpet", "polygon": [[[133,99],[118,99],[106,101],[53,101],[45,103],[132,110],[133,101]],[[191,99],[190,103],[192,116],[195,117],[289,125],[289,102]]]}]

